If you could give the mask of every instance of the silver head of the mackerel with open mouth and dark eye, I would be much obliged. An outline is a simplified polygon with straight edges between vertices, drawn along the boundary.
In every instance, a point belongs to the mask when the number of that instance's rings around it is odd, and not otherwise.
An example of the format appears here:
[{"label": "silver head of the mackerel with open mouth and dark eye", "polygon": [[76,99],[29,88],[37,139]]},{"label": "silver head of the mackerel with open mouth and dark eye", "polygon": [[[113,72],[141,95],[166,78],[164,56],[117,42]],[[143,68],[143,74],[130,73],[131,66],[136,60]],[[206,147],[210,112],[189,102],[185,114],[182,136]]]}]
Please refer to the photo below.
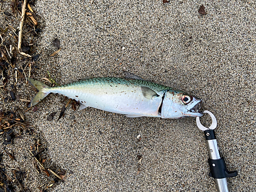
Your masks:
[{"label": "silver head of the mackerel with open mouth and dark eye", "polygon": [[202,100],[184,92],[167,91],[161,108],[162,118],[201,117]]}]

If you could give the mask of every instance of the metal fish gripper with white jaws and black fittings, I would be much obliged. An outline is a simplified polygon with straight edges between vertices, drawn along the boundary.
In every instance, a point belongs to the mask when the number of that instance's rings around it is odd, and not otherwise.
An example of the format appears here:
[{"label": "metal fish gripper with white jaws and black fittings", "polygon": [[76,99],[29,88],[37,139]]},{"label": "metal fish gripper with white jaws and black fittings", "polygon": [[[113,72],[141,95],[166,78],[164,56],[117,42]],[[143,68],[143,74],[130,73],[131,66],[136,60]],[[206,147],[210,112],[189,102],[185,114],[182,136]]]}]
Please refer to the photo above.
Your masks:
[{"label": "metal fish gripper with white jaws and black fittings", "polygon": [[238,175],[238,172],[236,170],[229,172],[227,170],[224,158],[220,155],[219,146],[214,132],[214,129],[217,127],[216,117],[209,111],[204,111],[203,113],[209,114],[212,120],[210,127],[207,128],[201,124],[200,118],[197,117],[197,126],[200,130],[204,132],[207,148],[209,151],[209,176],[215,179],[218,191],[228,192],[229,187],[227,183],[227,178],[236,177]]}]

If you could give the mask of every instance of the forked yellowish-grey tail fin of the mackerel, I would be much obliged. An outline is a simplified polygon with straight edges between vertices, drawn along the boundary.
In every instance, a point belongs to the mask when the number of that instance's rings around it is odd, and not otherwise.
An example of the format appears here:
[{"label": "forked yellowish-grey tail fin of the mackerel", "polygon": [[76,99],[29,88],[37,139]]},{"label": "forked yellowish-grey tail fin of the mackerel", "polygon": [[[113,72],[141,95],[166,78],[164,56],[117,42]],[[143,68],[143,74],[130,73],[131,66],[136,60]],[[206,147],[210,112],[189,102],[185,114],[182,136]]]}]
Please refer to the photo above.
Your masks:
[{"label": "forked yellowish-grey tail fin of the mackerel", "polygon": [[37,81],[35,79],[27,78],[30,84],[32,84],[33,87],[35,87],[39,92],[31,99],[29,107],[36,105],[38,102],[40,102],[42,99],[44,99],[50,92],[44,92],[45,88],[49,88],[47,84],[44,84],[40,81]]}]

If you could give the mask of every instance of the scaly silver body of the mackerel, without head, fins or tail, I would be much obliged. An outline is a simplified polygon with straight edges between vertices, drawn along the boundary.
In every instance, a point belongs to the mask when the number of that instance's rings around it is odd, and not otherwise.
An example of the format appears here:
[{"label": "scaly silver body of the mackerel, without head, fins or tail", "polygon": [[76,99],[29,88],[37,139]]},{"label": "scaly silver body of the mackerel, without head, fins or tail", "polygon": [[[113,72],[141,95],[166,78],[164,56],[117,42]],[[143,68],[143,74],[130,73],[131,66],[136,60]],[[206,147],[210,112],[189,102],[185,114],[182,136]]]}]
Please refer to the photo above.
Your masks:
[{"label": "scaly silver body of the mackerel, without head, fins or tail", "polygon": [[[150,88],[158,96],[145,98],[141,87]],[[158,116],[162,96],[170,88],[144,80],[125,80],[121,78],[92,78],[80,80],[45,92],[58,93],[79,100],[84,106],[91,106],[108,112]],[[148,108],[151,106],[151,108]]]}]

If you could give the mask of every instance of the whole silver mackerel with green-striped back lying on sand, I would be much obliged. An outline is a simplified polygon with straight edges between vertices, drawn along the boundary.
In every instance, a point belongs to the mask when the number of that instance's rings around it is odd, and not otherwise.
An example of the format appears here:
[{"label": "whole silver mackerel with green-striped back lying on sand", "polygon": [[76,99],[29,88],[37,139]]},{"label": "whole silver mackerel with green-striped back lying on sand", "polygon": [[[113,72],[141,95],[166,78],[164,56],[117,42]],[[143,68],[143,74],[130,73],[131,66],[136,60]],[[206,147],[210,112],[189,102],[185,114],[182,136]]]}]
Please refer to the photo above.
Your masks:
[{"label": "whole silver mackerel with green-striped back lying on sand", "polygon": [[69,84],[49,87],[38,80],[27,78],[39,92],[31,99],[36,105],[48,94],[61,94],[79,101],[79,109],[87,107],[123,114],[127,117],[183,118],[201,117],[202,100],[132,73],[126,78],[87,77]]}]

